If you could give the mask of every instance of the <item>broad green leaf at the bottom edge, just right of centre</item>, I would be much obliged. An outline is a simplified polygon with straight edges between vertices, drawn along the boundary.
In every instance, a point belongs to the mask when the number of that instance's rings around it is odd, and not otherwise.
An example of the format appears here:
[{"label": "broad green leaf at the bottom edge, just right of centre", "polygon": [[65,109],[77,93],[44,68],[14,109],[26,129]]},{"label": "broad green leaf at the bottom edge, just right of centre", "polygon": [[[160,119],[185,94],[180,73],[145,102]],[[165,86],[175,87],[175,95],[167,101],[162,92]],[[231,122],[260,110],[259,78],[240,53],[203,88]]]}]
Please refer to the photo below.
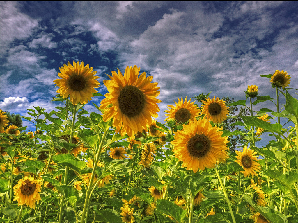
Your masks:
[{"label": "broad green leaf at the bottom edge, just right of centre", "polygon": [[178,205],[164,199],[156,201],[156,210],[173,217],[179,223],[182,222],[187,214],[187,210],[183,210]]}]

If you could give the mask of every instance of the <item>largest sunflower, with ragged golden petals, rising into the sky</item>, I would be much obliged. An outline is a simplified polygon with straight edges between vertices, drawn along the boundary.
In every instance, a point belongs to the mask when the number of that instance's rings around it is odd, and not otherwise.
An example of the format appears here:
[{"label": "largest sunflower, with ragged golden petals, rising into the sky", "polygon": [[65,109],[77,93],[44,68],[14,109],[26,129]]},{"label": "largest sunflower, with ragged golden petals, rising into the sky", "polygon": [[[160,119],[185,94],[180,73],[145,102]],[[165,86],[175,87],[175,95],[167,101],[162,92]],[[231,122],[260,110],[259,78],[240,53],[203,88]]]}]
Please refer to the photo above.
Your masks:
[{"label": "largest sunflower, with ragged golden petals, rising into the sky", "polygon": [[124,76],[118,69],[118,74],[111,71],[111,80],[103,80],[109,93],[101,101],[100,109],[105,109],[103,121],[114,117],[113,125],[120,131],[121,136],[126,133],[129,137],[142,132],[143,128],[151,121],[151,117],[158,117],[160,111],[157,103],[162,102],[155,98],[159,95],[157,83],[150,83],[153,76],[146,78],[143,72],[139,78],[141,68],[137,66],[126,67]]}]

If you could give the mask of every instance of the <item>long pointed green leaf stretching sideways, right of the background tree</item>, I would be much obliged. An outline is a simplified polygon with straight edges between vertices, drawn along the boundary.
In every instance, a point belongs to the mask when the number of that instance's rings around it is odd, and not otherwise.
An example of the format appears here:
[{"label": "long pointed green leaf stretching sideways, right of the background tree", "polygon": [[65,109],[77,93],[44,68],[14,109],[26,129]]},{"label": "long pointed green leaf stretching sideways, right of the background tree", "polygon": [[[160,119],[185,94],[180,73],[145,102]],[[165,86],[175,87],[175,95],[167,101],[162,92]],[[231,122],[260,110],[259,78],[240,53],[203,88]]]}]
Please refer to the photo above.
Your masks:
[{"label": "long pointed green leaf stretching sideways, right of the background tree", "polygon": [[265,122],[261,119],[255,118],[255,117],[250,117],[250,116],[239,116],[242,118],[242,120],[244,121],[244,123],[246,125],[252,125],[252,126],[256,126],[258,128],[263,128],[269,132],[276,132],[278,134],[282,134],[281,132],[281,128],[282,126],[278,123],[276,124],[270,124],[268,122]]}]

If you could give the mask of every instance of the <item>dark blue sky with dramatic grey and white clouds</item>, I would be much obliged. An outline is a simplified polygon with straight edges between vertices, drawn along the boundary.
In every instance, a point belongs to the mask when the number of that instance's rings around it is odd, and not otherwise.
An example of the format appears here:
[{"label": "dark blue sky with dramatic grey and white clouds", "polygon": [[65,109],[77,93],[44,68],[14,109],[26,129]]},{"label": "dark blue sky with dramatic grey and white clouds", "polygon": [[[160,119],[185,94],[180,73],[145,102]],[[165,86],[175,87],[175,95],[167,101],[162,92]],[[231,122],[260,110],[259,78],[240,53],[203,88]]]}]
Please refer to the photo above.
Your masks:
[{"label": "dark blue sky with dramatic grey and white clouds", "polygon": [[[245,100],[257,85],[276,98],[260,76],[275,70],[298,88],[297,1],[1,1],[0,37],[0,109],[24,116],[33,106],[55,110],[53,80],[68,61],[93,67],[103,95],[111,70],[141,67],[160,87],[161,123],[173,100],[202,92]],[[265,107],[276,110],[255,109]]]}]

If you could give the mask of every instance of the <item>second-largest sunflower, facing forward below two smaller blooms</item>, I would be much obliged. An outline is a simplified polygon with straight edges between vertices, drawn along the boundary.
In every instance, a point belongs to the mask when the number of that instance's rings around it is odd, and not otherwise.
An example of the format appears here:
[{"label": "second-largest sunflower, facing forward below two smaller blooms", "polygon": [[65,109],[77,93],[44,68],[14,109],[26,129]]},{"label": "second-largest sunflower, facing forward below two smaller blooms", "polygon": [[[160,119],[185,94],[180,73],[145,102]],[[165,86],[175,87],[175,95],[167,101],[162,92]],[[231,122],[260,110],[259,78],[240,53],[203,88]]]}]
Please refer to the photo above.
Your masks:
[{"label": "second-largest sunflower, facing forward below two smaller blooms", "polygon": [[171,144],[174,145],[174,155],[183,161],[182,167],[187,170],[204,170],[205,167],[215,167],[216,161],[223,157],[227,150],[226,137],[221,137],[218,127],[212,127],[204,118],[183,124],[183,131],[177,131]]}]

